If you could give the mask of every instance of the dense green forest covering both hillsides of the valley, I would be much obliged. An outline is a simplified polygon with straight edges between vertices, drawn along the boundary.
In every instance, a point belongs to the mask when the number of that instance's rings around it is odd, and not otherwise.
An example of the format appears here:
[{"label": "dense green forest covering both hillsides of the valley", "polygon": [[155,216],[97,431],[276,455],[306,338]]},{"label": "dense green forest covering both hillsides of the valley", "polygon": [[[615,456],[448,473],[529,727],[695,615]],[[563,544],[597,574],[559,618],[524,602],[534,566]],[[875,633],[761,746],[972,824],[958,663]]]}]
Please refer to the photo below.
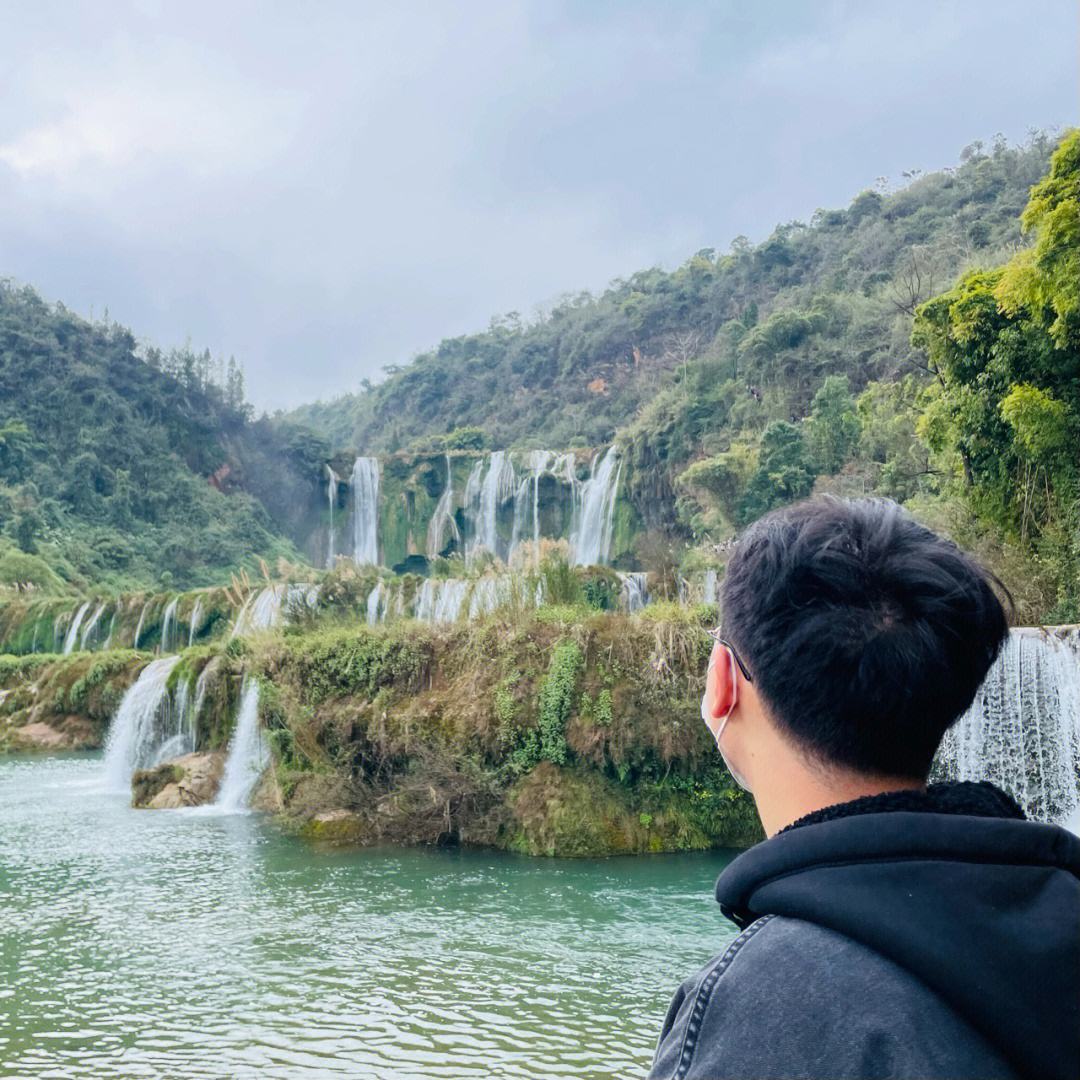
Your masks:
[{"label": "dense green forest covering both hillsides of the valley", "polygon": [[879,494],[974,548],[1018,618],[1076,620],[1080,151],[1055,145],[973,144],[956,168],[496,319],[273,418],[231,361],[3,284],[0,579],[218,582],[298,557],[327,460],[616,441],[632,562],[661,593],[773,507]]}]

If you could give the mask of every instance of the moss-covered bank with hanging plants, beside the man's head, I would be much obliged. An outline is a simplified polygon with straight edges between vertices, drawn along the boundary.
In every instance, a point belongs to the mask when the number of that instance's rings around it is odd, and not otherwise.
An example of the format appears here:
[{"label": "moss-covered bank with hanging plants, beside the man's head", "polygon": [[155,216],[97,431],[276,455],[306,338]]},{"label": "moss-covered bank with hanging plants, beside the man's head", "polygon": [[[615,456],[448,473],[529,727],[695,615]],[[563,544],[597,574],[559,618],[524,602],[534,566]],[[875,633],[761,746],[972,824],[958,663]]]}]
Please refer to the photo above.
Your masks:
[{"label": "moss-covered bank with hanging plants, beside the man's head", "polygon": [[530,854],[759,838],[698,718],[694,612],[543,608],[265,639],[247,663],[286,819],[327,842]]}]

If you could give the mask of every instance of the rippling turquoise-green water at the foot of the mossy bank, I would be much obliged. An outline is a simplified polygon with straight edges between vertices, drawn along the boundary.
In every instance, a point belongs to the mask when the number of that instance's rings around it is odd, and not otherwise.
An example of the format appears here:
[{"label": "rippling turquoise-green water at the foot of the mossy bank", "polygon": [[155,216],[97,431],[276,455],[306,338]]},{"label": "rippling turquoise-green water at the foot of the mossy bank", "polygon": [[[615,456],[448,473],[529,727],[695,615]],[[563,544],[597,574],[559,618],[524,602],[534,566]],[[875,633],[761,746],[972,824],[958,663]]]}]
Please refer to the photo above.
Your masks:
[{"label": "rippling turquoise-green water at the foot of the mossy bank", "polygon": [[633,1077],[733,936],[720,854],[313,851],[0,760],[0,1072]]}]

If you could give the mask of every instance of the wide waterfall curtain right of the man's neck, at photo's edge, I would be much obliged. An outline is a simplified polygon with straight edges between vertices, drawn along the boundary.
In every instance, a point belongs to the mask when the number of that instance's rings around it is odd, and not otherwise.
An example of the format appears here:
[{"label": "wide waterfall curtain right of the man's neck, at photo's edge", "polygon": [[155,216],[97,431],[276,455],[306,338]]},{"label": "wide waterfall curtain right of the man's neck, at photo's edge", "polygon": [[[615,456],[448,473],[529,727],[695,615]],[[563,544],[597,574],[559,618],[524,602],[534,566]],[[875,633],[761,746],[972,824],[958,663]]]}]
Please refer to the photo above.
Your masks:
[{"label": "wide waterfall curtain right of the man's neck, at photo's edge", "polygon": [[946,732],[936,777],[989,780],[1038,821],[1080,815],[1080,639],[1014,630],[971,708]]}]

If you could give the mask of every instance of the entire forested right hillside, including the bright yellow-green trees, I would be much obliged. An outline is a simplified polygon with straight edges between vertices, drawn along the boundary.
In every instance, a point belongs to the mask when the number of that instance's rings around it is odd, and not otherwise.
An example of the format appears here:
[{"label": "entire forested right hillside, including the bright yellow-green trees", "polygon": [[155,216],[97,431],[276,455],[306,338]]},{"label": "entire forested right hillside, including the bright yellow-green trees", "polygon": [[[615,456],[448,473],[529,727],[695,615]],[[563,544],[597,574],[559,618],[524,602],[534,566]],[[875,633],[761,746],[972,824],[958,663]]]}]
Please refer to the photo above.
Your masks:
[{"label": "entire forested right hillside, including the bright yellow-green trees", "polygon": [[1054,146],[972,144],[956,168],[496,319],[292,418],[367,453],[616,438],[640,564],[667,579],[786,501],[888,496],[976,549],[1018,618],[1080,618],[1061,254],[1078,246],[1077,136],[1044,178]]}]

